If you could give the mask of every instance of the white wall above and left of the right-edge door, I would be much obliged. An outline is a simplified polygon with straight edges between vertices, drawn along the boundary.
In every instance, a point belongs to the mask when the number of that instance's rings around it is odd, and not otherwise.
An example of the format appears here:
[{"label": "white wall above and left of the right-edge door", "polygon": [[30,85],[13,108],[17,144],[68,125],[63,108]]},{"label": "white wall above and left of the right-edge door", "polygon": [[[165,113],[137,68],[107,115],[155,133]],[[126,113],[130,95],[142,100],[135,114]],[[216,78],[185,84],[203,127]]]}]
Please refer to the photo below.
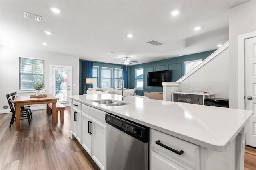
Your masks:
[{"label": "white wall above and left of the right-edge door", "polygon": [[[237,36],[256,31],[256,0],[230,9],[229,18],[229,104],[237,108]],[[244,89],[241,89],[244,90]]]}]

